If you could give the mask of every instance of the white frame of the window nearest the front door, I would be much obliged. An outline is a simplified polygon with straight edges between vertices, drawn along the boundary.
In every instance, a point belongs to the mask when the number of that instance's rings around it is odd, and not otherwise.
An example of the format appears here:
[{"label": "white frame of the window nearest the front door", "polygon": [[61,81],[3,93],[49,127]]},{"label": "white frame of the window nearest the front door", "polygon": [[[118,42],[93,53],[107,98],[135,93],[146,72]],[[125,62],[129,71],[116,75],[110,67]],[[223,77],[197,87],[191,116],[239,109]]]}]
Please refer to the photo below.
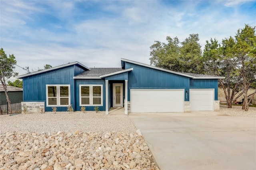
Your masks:
[{"label": "white frame of the window nearest the front door", "polygon": [[[90,96],[89,96],[89,99],[90,99],[90,104],[82,104],[82,95],[81,95],[81,87],[82,86],[89,86],[90,87]],[[96,97],[96,98],[101,98],[101,104],[92,104],[92,99],[93,99],[93,96],[92,96],[92,88],[93,87],[101,87],[100,91],[101,91],[101,96],[100,97]],[[95,97],[95,96],[94,96]],[[79,85],[79,106],[103,106],[103,85],[102,84],[80,84]]]}]

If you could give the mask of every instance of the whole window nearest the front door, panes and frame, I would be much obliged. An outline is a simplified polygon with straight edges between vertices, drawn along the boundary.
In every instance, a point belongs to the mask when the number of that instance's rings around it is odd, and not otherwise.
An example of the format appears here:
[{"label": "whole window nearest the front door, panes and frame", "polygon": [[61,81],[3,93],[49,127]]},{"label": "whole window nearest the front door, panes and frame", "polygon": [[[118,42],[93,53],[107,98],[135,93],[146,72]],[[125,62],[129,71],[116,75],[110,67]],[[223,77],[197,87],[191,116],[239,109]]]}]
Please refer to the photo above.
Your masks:
[{"label": "whole window nearest the front door, panes and frame", "polygon": [[80,85],[80,106],[102,106],[102,85]]}]

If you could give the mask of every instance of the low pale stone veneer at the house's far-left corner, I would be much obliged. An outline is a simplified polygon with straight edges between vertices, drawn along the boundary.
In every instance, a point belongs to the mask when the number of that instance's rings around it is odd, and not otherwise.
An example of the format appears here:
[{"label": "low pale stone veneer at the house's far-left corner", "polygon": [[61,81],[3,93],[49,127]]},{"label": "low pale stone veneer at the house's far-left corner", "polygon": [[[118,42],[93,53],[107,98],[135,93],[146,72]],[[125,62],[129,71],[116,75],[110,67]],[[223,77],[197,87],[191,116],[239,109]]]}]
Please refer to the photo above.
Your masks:
[{"label": "low pale stone veneer at the house's far-left corner", "polygon": [[41,113],[44,112],[44,102],[21,102],[21,113],[24,113],[24,107],[27,107],[27,113]]}]

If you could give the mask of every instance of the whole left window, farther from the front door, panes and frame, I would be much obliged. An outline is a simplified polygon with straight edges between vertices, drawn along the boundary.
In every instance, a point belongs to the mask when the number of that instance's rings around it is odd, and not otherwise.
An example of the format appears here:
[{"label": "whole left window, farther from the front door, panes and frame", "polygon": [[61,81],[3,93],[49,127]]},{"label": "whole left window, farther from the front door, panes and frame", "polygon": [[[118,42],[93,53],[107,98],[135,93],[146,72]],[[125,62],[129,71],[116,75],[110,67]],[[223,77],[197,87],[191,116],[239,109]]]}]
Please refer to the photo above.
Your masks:
[{"label": "whole left window, farther from the front door, panes and frame", "polygon": [[46,85],[46,106],[70,106],[70,85]]}]

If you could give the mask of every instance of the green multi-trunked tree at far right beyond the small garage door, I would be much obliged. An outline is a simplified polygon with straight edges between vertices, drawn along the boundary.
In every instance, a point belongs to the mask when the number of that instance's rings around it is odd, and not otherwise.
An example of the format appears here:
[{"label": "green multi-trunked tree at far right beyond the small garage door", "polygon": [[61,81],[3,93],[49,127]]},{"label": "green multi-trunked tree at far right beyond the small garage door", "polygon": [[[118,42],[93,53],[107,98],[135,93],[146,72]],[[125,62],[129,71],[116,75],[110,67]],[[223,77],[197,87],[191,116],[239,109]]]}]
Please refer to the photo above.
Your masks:
[{"label": "green multi-trunked tree at far right beyond the small garage door", "polygon": [[[223,39],[222,44],[216,39],[206,41],[202,60],[209,74],[226,77],[219,81],[228,107],[232,107],[236,99],[244,95],[242,108],[248,111],[248,89],[253,88],[256,82],[255,27],[245,25],[243,29],[238,29],[235,37]],[[241,89],[242,93],[234,98]]]}]

